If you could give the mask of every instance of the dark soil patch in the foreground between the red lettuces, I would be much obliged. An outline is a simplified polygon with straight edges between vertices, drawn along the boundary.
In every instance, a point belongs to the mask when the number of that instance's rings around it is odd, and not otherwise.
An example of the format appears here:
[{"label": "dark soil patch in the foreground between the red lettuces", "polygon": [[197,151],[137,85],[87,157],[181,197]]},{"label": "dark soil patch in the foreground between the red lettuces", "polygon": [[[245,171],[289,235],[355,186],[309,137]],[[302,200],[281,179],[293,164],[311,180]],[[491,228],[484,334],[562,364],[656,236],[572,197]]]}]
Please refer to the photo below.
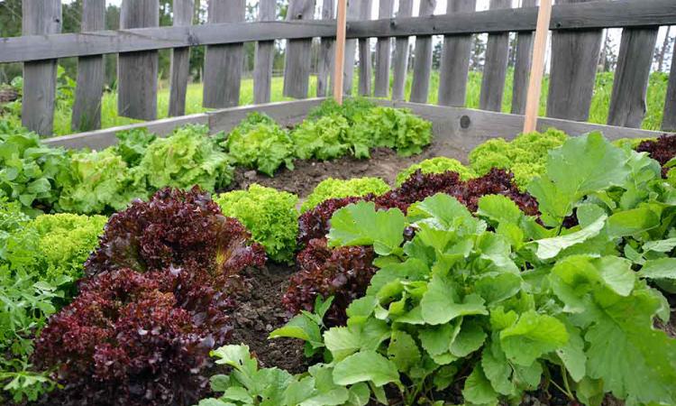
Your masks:
[{"label": "dark soil patch in the foreground between the red lettuces", "polygon": [[233,315],[231,342],[248,345],[261,367],[277,366],[299,374],[308,366],[303,355],[303,342],[291,338],[268,339],[272,330],[288,321],[281,297],[287,291],[288,277],[293,272],[296,272],[293,266],[273,263],[261,270],[247,272],[245,289]]}]

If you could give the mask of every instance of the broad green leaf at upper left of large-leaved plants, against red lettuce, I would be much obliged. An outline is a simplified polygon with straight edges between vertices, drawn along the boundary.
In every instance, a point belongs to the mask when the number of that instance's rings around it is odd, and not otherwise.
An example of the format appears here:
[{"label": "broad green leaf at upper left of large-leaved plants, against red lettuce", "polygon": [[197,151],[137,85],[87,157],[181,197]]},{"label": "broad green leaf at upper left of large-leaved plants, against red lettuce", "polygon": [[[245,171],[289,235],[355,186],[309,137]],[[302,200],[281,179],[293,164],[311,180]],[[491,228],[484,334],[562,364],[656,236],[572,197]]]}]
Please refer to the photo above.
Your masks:
[{"label": "broad green leaf at upper left of large-leaved plants, against red lettuce", "polygon": [[374,203],[361,201],[333,213],[329,246],[373,245],[376,254],[393,254],[400,250],[405,225],[397,208],[377,211]]}]

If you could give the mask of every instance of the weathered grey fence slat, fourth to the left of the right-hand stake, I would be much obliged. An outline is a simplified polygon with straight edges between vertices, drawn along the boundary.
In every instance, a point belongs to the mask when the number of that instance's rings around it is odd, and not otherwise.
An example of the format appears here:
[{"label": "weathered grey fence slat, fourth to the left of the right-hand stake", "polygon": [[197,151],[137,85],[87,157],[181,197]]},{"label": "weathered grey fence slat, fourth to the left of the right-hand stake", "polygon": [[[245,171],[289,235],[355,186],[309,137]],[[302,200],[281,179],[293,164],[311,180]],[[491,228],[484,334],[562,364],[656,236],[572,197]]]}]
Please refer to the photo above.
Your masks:
[{"label": "weathered grey fence slat, fourth to the left of the right-hand stake", "polygon": [[[433,15],[436,0],[420,0],[418,15]],[[427,103],[430,92],[430,73],[432,73],[432,36],[416,37],[416,59],[413,64],[413,83],[411,101]]]}]

